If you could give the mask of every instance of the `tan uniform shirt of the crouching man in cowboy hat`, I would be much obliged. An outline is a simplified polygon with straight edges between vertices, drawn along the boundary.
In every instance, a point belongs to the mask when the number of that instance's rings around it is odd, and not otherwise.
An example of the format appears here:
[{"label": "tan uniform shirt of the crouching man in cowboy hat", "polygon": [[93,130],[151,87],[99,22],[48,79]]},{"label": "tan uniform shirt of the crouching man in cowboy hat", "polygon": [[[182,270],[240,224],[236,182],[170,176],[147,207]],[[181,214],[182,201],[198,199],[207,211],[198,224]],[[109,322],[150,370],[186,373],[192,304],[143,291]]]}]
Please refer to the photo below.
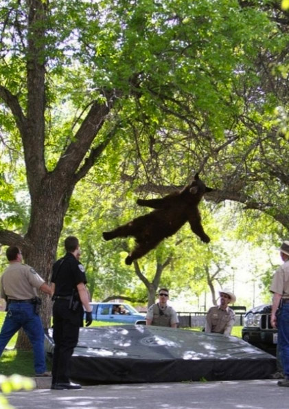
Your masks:
[{"label": "tan uniform shirt of the crouching man in cowboy hat", "polygon": [[235,313],[233,309],[221,309],[211,307],[207,312],[205,332],[215,332],[230,335],[235,323]]}]

